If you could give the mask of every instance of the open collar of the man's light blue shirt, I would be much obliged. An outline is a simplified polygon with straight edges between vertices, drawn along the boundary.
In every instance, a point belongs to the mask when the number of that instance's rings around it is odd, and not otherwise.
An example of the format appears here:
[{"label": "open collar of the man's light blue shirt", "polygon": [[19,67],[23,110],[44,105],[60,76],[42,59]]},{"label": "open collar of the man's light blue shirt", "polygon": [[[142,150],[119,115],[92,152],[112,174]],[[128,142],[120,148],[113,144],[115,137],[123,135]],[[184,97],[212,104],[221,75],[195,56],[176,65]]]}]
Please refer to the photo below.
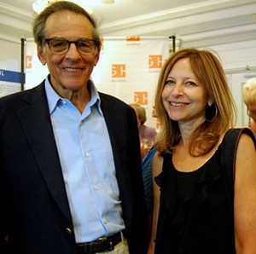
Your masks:
[{"label": "open collar of the man's light blue shirt", "polygon": [[[97,92],[95,84],[90,79],[87,85],[88,89],[90,90],[90,101],[86,107],[93,107],[95,105],[97,107],[98,113],[103,116],[101,109],[101,98]],[[63,98],[61,98],[61,96],[55,92],[55,89],[52,88],[51,84],[49,83],[49,75],[47,78],[45,78],[44,88],[48,100],[49,113],[52,114],[55,111],[55,107],[57,107],[58,101],[62,100]]]}]

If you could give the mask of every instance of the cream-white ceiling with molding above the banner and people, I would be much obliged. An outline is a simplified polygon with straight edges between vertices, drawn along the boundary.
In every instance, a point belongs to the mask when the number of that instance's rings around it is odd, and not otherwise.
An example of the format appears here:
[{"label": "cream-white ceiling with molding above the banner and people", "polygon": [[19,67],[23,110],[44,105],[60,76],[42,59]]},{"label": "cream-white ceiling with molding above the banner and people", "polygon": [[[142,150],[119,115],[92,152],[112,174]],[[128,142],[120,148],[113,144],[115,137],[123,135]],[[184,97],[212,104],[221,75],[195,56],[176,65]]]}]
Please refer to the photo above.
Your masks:
[{"label": "cream-white ceiling with molding above the banner and people", "polygon": [[[32,38],[33,0],[0,1],[0,38]],[[102,36],[174,33],[183,47],[256,39],[256,0],[85,1]]]}]

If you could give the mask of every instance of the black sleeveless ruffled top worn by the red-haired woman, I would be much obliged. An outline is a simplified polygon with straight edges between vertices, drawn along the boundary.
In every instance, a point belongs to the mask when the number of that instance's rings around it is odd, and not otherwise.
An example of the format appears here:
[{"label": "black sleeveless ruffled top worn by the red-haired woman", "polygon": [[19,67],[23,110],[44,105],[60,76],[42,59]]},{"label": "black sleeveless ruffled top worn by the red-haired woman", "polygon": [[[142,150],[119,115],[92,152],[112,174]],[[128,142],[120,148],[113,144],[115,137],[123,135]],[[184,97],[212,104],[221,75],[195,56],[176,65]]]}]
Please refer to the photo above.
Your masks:
[{"label": "black sleeveless ruffled top worn by the red-haired woman", "polygon": [[212,158],[193,172],[177,171],[172,154],[162,154],[163,170],[155,178],[161,192],[155,254],[236,253],[233,161],[243,132],[251,136],[250,130],[230,130]]}]

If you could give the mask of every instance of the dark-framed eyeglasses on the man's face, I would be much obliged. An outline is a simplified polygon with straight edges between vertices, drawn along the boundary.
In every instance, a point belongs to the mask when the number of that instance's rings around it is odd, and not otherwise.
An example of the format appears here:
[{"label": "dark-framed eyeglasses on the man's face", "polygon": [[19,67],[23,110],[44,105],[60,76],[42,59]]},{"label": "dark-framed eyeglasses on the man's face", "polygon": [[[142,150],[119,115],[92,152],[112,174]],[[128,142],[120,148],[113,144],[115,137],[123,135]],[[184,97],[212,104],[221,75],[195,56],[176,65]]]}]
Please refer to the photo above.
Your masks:
[{"label": "dark-framed eyeglasses on the man's face", "polygon": [[44,39],[44,42],[49,45],[49,50],[54,54],[66,54],[70,48],[71,43],[75,43],[78,51],[82,55],[92,54],[96,47],[100,46],[100,42],[97,40],[82,38],[78,41],[68,41],[64,38],[48,38]]}]

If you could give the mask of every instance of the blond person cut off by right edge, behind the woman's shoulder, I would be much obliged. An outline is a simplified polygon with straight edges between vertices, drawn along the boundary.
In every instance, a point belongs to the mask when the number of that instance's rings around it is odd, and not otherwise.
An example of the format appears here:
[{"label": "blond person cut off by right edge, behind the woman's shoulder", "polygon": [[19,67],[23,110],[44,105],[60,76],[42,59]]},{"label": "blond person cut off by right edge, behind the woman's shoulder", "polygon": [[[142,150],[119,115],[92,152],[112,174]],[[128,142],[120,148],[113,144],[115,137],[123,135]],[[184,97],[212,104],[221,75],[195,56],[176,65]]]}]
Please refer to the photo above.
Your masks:
[{"label": "blond person cut off by right edge, behind the woman's shoulder", "polygon": [[253,131],[256,137],[256,78],[247,80],[247,83],[242,88],[243,101],[247,105],[247,114],[249,123],[247,127]]}]

